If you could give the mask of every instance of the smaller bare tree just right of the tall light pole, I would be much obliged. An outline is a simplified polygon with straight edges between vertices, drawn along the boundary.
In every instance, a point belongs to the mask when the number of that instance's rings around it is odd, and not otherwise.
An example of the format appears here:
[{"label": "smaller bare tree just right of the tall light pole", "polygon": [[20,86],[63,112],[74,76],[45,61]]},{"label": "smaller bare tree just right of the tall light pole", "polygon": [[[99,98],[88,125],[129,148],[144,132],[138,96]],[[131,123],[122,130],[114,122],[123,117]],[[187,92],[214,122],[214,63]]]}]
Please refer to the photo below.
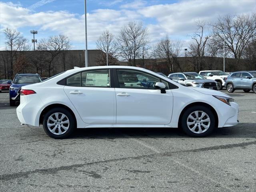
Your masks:
[{"label": "smaller bare tree just right of the tall light pole", "polygon": [[102,51],[100,58],[97,62],[99,65],[106,65],[108,52],[108,65],[115,65],[118,61],[116,58],[118,56],[116,41],[114,39],[114,34],[110,33],[108,30],[105,30],[96,42],[96,46],[99,50]]}]

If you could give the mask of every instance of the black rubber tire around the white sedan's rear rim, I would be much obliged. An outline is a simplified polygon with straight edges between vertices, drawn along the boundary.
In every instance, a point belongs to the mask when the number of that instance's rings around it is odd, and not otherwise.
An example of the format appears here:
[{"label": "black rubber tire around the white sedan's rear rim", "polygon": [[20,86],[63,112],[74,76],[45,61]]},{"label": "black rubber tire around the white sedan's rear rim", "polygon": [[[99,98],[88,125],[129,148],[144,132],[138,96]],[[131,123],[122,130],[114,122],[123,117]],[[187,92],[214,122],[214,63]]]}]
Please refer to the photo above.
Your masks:
[{"label": "black rubber tire around the white sedan's rear rim", "polygon": [[[48,129],[48,126],[47,126],[47,120],[48,118],[54,114],[54,113],[62,113],[64,115],[67,116],[68,120],[69,120],[69,127],[68,127],[68,130],[66,130],[66,132],[64,132],[63,134],[61,135],[56,135],[54,133],[52,133],[49,129]],[[49,110],[48,112],[46,112],[46,114],[44,115],[44,119],[43,119],[43,127],[44,127],[44,131],[46,132],[46,134],[48,134],[48,136],[50,136],[51,138],[54,138],[54,139],[64,139],[64,138],[67,138],[68,136],[70,136],[75,128],[76,128],[76,120],[75,120],[75,117],[66,109],[64,108],[53,108],[51,110]],[[57,130],[57,129],[56,129]],[[62,128],[62,130],[64,130]]]}]

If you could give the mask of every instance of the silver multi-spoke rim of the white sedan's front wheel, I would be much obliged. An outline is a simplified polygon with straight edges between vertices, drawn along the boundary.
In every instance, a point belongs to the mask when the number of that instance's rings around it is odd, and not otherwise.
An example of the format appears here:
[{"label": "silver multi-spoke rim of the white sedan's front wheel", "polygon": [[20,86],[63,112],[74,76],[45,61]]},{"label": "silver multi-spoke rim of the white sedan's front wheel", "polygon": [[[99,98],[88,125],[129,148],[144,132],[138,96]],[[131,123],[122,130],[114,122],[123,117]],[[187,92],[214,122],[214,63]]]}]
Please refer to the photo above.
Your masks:
[{"label": "silver multi-spoke rim of the white sedan's front wheel", "polygon": [[210,127],[210,123],[210,117],[203,111],[194,111],[187,118],[189,130],[196,134],[206,132]]}]

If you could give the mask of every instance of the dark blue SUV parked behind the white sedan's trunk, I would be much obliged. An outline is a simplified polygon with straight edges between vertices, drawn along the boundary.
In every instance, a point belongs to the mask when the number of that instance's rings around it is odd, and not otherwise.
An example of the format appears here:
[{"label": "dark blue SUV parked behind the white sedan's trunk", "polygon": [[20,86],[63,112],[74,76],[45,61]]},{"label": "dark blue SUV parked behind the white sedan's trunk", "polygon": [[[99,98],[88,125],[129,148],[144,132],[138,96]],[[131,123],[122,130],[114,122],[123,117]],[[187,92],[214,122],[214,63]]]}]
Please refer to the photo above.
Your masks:
[{"label": "dark blue SUV parked behind the white sedan's trunk", "polygon": [[20,102],[20,89],[22,86],[39,83],[42,79],[38,74],[16,74],[9,90],[10,106]]}]

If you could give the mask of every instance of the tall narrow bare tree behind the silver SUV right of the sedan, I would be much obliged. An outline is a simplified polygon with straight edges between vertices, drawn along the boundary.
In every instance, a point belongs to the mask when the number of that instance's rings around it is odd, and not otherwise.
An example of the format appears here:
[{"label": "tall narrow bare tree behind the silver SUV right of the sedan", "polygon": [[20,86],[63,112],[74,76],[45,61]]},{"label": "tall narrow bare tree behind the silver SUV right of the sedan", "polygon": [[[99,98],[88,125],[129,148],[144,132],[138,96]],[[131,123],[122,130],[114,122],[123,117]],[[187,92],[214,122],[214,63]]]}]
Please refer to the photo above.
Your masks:
[{"label": "tall narrow bare tree behind the silver SUV right of the sedan", "polygon": [[[191,35],[192,43],[190,43],[190,51],[188,55],[192,57],[194,70],[201,71],[204,62],[205,50],[207,40],[210,38],[209,35],[205,35],[206,25],[203,20],[196,21],[196,32]],[[190,61],[191,62],[191,61]]]}]

